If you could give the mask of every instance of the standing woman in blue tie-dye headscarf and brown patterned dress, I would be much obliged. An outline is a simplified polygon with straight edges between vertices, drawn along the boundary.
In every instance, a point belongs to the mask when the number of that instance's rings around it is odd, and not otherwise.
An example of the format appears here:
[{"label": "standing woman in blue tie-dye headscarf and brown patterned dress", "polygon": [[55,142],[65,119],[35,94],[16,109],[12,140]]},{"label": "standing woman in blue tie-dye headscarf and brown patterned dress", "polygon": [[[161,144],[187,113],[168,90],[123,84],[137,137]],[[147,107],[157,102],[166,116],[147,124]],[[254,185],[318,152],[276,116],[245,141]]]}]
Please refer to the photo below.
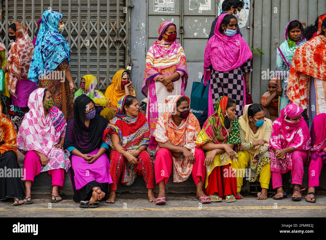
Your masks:
[{"label": "standing woman in blue tie-dye headscarf and brown patterned dress", "polygon": [[61,13],[43,12],[27,78],[38,83],[39,88],[50,90],[54,106],[68,121],[73,117],[71,93],[75,92],[75,85],[70,72],[70,47],[61,34],[64,27]]}]

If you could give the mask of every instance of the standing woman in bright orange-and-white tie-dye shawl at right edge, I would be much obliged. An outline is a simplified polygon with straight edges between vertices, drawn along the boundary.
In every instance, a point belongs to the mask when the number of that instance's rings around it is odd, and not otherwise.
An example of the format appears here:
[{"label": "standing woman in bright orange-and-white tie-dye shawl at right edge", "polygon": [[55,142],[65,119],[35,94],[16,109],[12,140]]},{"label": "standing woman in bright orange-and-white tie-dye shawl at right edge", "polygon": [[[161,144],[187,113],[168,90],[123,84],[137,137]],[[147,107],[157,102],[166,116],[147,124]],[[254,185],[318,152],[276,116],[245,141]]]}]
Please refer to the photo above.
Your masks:
[{"label": "standing woman in bright orange-and-white tie-dye shawl at right edge", "polygon": [[325,46],[326,14],[319,17],[317,36],[293,54],[288,80],[289,100],[303,109],[309,108],[309,126],[317,114],[326,112]]}]

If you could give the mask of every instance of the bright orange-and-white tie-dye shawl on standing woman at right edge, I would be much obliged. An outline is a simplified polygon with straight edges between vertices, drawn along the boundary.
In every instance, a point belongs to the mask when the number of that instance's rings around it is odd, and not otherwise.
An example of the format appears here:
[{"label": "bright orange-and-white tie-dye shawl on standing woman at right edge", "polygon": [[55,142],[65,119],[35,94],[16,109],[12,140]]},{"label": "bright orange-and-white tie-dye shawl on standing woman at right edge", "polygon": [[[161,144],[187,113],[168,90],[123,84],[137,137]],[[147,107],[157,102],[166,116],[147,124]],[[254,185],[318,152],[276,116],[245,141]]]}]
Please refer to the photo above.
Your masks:
[{"label": "bright orange-and-white tie-dye shawl on standing woman at right edge", "polygon": [[326,81],[326,38],[321,35],[321,23],[326,14],[319,17],[318,36],[310,39],[293,54],[287,95],[291,103],[303,109],[309,104],[310,76]]}]

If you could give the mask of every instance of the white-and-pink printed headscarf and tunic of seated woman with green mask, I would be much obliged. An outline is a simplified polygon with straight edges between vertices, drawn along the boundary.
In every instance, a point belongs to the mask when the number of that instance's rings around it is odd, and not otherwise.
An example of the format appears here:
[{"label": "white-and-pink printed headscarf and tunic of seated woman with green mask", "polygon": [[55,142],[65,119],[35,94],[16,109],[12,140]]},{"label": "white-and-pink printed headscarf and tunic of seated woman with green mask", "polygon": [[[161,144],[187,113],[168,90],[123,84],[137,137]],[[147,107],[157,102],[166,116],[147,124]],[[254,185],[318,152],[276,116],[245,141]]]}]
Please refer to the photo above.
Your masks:
[{"label": "white-and-pink printed headscarf and tunic of seated woman with green mask", "polygon": [[46,155],[50,162],[49,166],[41,168],[41,172],[51,169],[64,168],[68,171],[70,161],[69,152],[55,148],[61,137],[66,134],[66,120],[63,113],[56,107],[49,110],[44,117],[43,94],[45,88],[34,90],[28,99],[29,112],[25,114],[17,136],[17,148],[23,153],[36,150]]}]

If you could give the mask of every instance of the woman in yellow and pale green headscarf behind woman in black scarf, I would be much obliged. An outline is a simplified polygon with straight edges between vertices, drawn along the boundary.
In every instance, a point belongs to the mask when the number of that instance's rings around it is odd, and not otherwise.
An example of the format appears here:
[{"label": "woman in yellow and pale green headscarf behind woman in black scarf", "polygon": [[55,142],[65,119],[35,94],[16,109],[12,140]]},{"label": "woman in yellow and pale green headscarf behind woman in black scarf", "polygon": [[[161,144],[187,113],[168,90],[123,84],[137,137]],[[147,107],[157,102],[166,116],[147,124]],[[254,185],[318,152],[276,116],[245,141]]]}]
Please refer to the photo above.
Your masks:
[{"label": "woman in yellow and pale green headscarf behind woman in black scarf", "polygon": [[100,114],[103,110],[103,107],[106,107],[108,104],[108,99],[104,97],[103,93],[99,90],[96,90],[97,79],[94,75],[88,74],[82,77],[81,79],[81,88],[75,92],[74,98],[81,96],[82,94],[87,95],[87,97],[92,98],[95,103],[96,114]]}]

